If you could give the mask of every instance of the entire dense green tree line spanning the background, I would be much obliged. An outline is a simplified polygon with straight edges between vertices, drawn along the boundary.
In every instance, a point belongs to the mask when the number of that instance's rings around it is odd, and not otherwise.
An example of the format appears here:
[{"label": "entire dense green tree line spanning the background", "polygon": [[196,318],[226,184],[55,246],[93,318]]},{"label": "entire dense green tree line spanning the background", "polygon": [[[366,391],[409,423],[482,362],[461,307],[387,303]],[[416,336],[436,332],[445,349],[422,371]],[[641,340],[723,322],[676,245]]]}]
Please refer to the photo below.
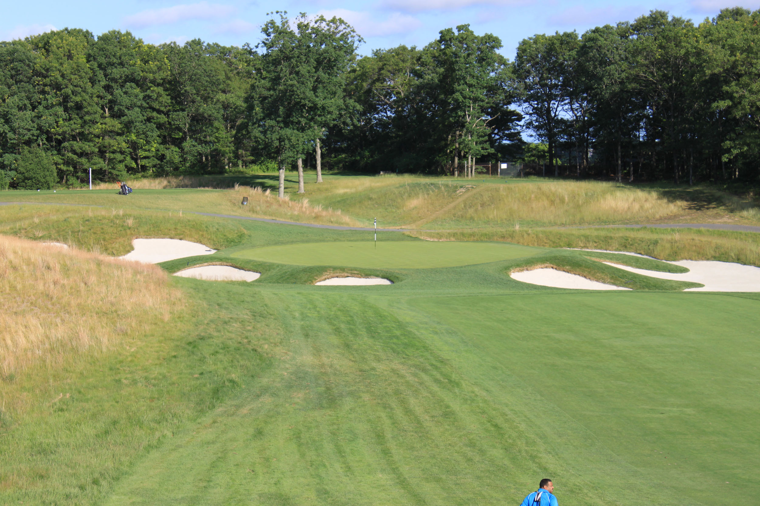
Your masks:
[{"label": "entire dense green tree line spanning the background", "polygon": [[[0,42],[0,187],[251,168],[758,178],[760,11],[537,35],[514,62],[467,25],[359,57],[343,20],[283,14],[258,46],[116,30]],[[537,144],[526,144],[534,137]],[[321,176],[318,176],[321,177]],[[302,184],[301,184],[302,190]]]}]

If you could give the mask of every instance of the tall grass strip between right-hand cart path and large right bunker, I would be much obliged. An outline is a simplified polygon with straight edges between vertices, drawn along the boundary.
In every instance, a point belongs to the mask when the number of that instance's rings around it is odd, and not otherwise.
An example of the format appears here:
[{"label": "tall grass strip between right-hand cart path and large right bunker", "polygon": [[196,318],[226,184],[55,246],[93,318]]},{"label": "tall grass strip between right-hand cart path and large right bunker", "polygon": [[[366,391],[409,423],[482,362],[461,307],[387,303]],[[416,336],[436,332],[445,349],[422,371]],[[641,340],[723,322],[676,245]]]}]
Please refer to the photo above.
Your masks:
[{"label": "tall grass strip between right-hand cart path and large right bunker", "polygon": [[705,228],[416,231],[433,240],[503,240],[525,246],[631,251],[661,260],[718,260],[760,267],[760,234]]}]

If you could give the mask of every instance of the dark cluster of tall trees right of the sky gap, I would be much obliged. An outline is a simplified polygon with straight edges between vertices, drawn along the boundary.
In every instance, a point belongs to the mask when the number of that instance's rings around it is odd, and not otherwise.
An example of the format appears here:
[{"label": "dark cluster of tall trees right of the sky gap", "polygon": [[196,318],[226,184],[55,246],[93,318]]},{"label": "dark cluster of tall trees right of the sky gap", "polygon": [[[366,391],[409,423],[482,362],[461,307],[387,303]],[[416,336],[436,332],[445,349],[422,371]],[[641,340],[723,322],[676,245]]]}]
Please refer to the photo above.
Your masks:
[{"label": "dark cluster of tall trees right of the sky gap", "polygon": [[549,167],[560,171],[559,149],[578,175],[758,178],[758,20],[743,8],[699,25],[652,11],[524,39],[515,82]]}]

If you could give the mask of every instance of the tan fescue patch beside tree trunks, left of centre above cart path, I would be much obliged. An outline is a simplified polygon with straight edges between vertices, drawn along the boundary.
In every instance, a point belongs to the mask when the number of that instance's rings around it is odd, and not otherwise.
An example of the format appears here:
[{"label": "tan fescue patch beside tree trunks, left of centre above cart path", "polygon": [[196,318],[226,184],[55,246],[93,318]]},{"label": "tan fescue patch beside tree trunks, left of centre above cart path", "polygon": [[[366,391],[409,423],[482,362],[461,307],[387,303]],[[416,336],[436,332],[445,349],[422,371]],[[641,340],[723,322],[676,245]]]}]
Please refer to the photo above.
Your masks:
[{"label": "tan fescue patch beside tree trunks, left of centre above cart path", "polygon": [[[264,190],[261,187],[247,187],[235,185],[233,190],[225,193],[226,199],[230,206],[244,214],[254,215],[261,218],[274,218],[284,221],[315,222],[327,225],[360,225],[354,218],[344,215],[340,209],[332,209],[321,206],[320,204],[312,205],[307,198],[291,200],[289,194],[285,194],[280,199],[276,193],[271,190]],[[242,206],[243,197],[248,197],[248,204]]]}]

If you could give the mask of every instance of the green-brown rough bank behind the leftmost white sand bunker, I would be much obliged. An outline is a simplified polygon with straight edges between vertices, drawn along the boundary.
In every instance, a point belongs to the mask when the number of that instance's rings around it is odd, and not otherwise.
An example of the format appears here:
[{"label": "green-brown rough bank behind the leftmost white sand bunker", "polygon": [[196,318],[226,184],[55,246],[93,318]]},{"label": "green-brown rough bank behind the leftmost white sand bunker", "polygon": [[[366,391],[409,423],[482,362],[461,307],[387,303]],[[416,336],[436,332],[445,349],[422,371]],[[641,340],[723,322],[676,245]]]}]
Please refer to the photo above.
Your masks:
[{"label": "green-brown rough bank behind the leftmost white sand bunker", "polygon": [[191,240],[220,250],[246,235],[239,223],[187,212],[33,205],[0,207],[0,233],[112,256],[129,253],[138,237]]}]

